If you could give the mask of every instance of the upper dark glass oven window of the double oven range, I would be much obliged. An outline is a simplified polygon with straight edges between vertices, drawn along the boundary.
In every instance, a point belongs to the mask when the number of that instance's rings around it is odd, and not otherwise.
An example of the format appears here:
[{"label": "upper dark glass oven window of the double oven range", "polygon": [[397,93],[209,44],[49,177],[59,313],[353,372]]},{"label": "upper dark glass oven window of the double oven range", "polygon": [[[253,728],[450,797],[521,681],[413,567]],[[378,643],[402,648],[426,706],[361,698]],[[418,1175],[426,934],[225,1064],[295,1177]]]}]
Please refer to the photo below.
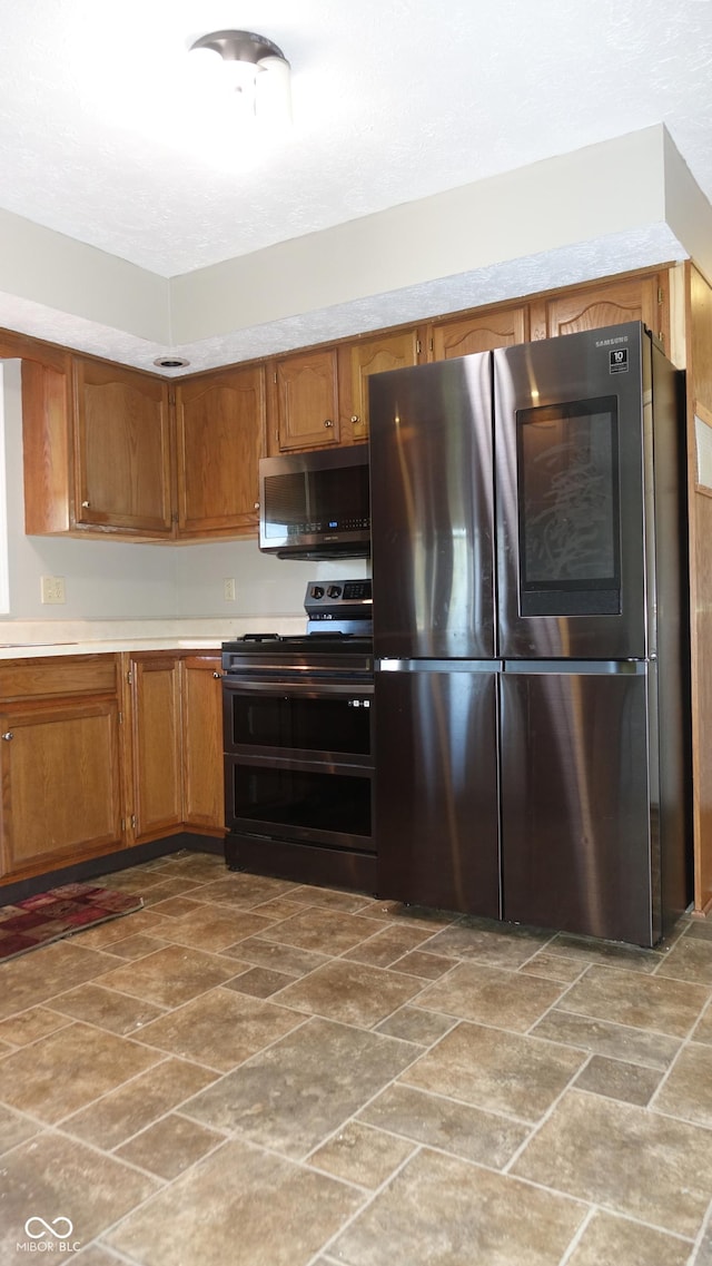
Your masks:
[{"label": "upper dark glass oven window of the double oven range", "polygon": [[302,752],[371,752],[371,700],[230,693],[235,747]]}]

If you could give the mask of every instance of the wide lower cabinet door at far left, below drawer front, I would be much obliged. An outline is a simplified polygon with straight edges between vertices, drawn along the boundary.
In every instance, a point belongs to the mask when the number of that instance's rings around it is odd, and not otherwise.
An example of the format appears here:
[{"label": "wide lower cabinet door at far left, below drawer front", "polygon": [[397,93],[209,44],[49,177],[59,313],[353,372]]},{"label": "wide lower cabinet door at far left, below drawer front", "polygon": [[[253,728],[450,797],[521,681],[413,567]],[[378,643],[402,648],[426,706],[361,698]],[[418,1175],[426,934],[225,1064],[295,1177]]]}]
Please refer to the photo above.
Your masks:
[{"label": "wide lower cabinet door at far left, below drawer front", "polygon": [[10,708],[0,727],[4,877],[121,848],[118,700]]}]

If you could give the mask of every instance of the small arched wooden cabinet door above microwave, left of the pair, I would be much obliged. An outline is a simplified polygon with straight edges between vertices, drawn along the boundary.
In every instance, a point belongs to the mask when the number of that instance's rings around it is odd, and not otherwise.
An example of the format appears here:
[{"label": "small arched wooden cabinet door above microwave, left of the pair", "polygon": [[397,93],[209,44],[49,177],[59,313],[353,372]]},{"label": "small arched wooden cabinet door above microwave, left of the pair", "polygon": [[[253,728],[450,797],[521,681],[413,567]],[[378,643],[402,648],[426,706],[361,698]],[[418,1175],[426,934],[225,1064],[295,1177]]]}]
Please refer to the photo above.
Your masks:
[{"label": "small arched wooden cabinet door above microwave, left of the pair", "polygon": [[277,361],[273,387],[276,418],[271,424],[271,447],[274,441],[278,452],[339,443],[335,348]]}]

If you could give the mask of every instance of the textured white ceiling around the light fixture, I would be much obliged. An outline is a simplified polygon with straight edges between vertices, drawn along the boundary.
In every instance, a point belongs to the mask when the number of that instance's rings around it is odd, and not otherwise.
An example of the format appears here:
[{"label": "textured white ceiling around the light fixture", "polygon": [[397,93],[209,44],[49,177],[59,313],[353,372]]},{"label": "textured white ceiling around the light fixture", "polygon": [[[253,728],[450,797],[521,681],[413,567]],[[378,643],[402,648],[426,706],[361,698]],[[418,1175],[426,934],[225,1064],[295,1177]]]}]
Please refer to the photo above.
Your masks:
[{"label": "textured white ceiling around the light fixture", "polygon": [[[190,68],[221,28],[292,65],[253,153]],[[0,206],[163,277],[656,123],[712,200],[711,0],[0,0]]]}]

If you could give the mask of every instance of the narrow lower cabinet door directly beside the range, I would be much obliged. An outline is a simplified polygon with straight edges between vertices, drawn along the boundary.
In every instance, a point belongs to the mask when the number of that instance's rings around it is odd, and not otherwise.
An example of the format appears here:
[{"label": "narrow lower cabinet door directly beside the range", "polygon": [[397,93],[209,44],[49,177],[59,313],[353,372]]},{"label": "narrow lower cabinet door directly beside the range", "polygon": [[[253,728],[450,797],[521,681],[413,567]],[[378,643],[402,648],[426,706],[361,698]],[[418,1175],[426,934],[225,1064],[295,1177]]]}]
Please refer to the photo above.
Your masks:
[{"label": "narrow lower cabinet door directly beside the range", "polygon": [[191,655],[181,662],[183,822],[193,830],[223,836],[223,682],[219,655]]}]

